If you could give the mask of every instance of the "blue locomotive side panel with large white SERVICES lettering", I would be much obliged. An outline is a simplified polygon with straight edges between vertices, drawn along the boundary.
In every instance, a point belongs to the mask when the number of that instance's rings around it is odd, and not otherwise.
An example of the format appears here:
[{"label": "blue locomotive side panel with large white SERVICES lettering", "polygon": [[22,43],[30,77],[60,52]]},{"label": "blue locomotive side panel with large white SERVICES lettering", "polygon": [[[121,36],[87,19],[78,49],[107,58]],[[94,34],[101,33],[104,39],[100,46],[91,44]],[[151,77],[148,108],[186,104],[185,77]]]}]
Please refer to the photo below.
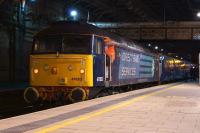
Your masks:
[{"label": "blue locomotive side panel with large white SERVICES lettering", "polygon": [[156,56],[132,49],[116,48],[116,59],[112,67],[113,86],[154,81],[158,81]]}]

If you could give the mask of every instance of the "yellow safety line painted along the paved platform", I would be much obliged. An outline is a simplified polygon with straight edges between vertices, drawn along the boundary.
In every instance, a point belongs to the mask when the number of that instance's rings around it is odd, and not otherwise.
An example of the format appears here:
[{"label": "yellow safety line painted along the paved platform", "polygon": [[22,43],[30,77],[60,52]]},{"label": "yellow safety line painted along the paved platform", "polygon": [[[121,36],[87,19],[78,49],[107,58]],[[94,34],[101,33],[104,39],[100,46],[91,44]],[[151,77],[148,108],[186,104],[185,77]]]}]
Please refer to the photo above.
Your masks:
[{"label": "yellow safety line painted along the paved platform", "polygon": [[51,127],[43,128],[40,131],[36,131],[35,133],[53,132],[53,131],[58,130],[60,128],[63,128],[63,127],[69,126],[69,125],[73,125],[73,124],[76,124],[78,122],[90,119],[92,117],[99,116],[99,115],[102,115],[104,113],[107,113],[107,112],[110,112],[110,111],[113,111],[113,110],[128,106],[128,105],[133,104],[133,103],[135,103],[135,102],[137,102],[139,100],[142,100],[142,99],[145,99],[147,97],[162,93],[162,92],[167,91],[169,89],[173,89],[173,88],[175,88],[175,87],[177,87],[179,85],[175,85],[175,86],[172,86],[172,87],[169,87],[167,89],[160,90],[160,91],[157,91],[157,92],[152,92],[150,94],[146,94],[146,95],[143,95],[143,96],[135,97],[135,98],[130,99],[128,101],[124,101],[124,102],[121,102],[121,103],[118,103],[118,104],[115,104],[115,105],[111,105],[109,107],[105,107],[105,108],[100,109],[98,111],[87,113],[87,114],[81,115],[79,117],[71,118],[71,119],[68,119],[66,121],[59,122],[59,123],[57,123],[57,124],[55,124],[55,125],[53,125]]}]

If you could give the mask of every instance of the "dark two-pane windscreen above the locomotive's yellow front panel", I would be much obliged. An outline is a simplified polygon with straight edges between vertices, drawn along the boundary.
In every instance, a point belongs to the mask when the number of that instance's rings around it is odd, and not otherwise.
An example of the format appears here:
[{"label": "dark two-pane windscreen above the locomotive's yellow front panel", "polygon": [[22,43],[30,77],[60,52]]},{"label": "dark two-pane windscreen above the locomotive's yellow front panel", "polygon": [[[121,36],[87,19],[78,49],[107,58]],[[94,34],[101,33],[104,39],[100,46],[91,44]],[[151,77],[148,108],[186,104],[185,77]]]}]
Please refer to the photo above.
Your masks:
[{"label": "dark two-pane windscreen above the locomotive's yellow front panel", "polygon": [[33,54],[90,54],[91,44],[92,36],[89,35],[46,36],[34,40]]}]

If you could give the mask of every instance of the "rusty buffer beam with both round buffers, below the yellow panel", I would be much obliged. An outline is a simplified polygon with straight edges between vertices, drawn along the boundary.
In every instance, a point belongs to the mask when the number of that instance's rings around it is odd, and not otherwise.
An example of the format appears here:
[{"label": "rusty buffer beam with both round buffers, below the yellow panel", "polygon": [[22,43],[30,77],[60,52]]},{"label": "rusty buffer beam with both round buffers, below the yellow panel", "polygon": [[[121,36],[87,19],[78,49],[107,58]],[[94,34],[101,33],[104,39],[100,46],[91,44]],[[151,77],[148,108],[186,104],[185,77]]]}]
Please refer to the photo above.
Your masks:
[{"label": "rusty buffer beam with both round buffers, below the yellow panel", "polygon": [[89,87],[45,86],[29,87],[24,92],[27,103],[38,101],[71,101],[78,102],[89,99]]}]

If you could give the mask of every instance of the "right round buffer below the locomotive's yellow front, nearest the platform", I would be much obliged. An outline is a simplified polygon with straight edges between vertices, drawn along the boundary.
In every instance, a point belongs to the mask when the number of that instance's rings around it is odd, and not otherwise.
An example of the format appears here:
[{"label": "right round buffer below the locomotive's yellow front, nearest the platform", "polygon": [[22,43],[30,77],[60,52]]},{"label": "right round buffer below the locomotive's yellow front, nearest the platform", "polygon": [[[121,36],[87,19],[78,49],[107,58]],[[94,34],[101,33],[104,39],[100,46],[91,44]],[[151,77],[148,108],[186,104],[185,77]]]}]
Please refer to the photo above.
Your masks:
[{"label": "right round buffer below the locomotive's yellow front, nearest the platform", "polygon": [[68,95],[69,100],[73,103],[84,101],[87,98],[86,91],[83,88],[76,87]]}]

